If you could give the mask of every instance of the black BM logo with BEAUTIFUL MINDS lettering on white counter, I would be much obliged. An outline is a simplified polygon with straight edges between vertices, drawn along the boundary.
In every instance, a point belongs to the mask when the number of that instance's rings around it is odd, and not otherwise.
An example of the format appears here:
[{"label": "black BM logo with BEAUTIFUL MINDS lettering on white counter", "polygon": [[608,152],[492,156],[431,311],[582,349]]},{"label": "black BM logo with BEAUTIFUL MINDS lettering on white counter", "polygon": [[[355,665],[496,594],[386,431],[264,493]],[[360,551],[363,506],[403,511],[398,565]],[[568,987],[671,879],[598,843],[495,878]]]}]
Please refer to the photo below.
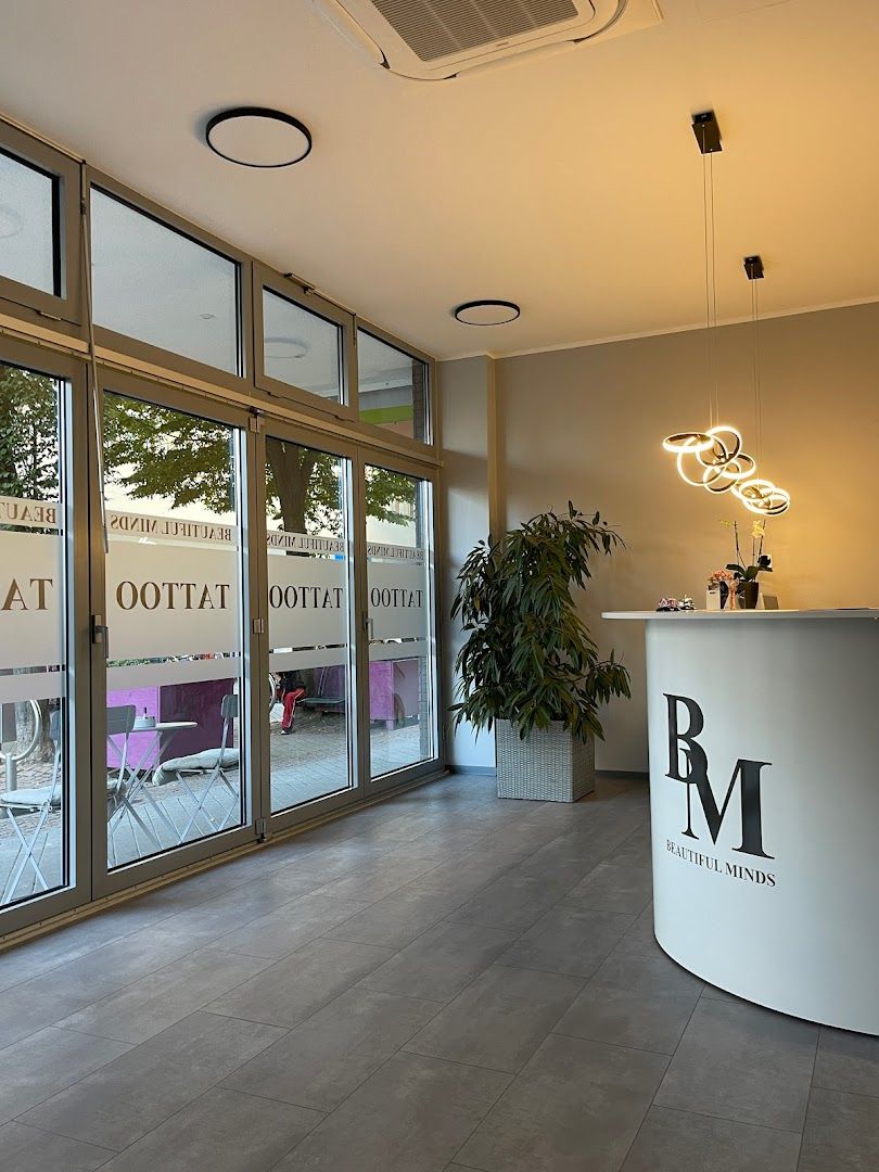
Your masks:
[{"label": "black BM logo with BEAUTIFUL MINDS lettering on white counter", "polygon": [[[683,782],[687,786],[687,826],[681,831],[684,838],[699,840],[699,834],[693,829],[693,793],[695,790],[702,813],[704,815],[708,833],[711,843],[717,844],[724,819],[730,813],[732,793],[738,783],[738,810],[741,844],[732,850],[738,854],[752,854],[759,859],[771,859],[772,854],[763,849],[763,811],[761,805],[761,774],[771,763],[768,761],[749,761],[740,757],[732,770],[732,777],[727,789],[723,804],[717,805],[711,783],[708,778],[708,754],[700,744],[697,737],[706,727],[706,718],[702,709],[695,700],[688,696],[676,696],[665,693],[668,703],[668,772],[667,777],[677,782]],[[681,717],[686,713],[687,727],[681,729]],[[684,771],[681,770],[682,763]],[[723,864],[720,859],[710,854],[703,854],[690,847],[681,846],[670,839],[667,844],[669,853],[677,858],[686,859],[704,866],[709,871],[718,874],[732,875],[736,879],[745,879],[751,883],[765,884],[775,887],[775,875],[754,867],[743,866],[737,863]]]}]

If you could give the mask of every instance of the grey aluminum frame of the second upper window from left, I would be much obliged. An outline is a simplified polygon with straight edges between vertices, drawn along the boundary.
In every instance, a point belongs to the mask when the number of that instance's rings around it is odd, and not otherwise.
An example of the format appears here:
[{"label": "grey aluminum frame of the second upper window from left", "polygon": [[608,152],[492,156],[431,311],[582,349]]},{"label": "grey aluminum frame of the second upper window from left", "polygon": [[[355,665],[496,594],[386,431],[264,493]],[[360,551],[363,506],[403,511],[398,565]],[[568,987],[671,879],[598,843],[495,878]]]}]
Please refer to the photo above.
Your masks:
[{"label": "grey aluminum frame of the second upper window from left", "polygon": [[132,338],[130,334],[120,334],[116,331],[108,329],[105,326],[101,326],[94,321],[94,306],[89,306],[98,359],[102,356],[102,352],[111,352],[117,359],[131,355],[163,373],[176,370],[212,386],[238,393],[250,391],[253,386],[253,298],[251,292],[253,259],[247,253],[232,247],[225,240],[211,236],[182,216],[177,216],[161,204],[156,204],[145,196],[139,195],[139,192],[118,183],[111,176],[96,171],[93,168],[86,169],[86,190],[83,193],[89,233],[93,230],[93,189],[97,189],[102,195],[118,200],[132,211],[146,217],[146,219],[151,219],[154,223],[168,229],[168,231],[185,237],[193,244],[216,253],[224,260],[229,260],[237,266],[236,315],[238,321],[238,370],[236,373],[199,362],[196,359],[188,357],[185,354],[178,354],[161,346],[154,346],[151,342],[141,341],[141,339]]}]

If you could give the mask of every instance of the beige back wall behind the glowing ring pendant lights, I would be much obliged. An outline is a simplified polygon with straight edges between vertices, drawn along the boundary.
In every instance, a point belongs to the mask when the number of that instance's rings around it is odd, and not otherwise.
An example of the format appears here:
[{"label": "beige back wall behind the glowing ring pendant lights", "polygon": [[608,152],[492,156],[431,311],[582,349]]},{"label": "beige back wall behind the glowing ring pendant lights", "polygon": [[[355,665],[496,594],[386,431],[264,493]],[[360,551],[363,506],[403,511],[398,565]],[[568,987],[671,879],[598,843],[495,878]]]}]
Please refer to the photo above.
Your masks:
[{"label": "beige back wall behind the glowing ring pendant lights", "polygon": [[[715,340],[722,415],[752,443],[752,332]],[[879,305],[830,309],[759,325],[762,471],[792,493],[768,526],[785,607],[879,604]],[[624,653],[633,701],[606,714],[606,769],[647,765],[643,629],[597,619],[604,609],[652,609],[662,594],[704,605],[707,574],[732,560],[720,518],[752,517],[729,496],[680,481],[660,441],[707,417],[704,331],[500,360],[497,391],[506,524],[568,498],[600,509],[627,551],[600,566],[584,611],[602,649]],[[748,665],[737,672],[747,687]]]}]

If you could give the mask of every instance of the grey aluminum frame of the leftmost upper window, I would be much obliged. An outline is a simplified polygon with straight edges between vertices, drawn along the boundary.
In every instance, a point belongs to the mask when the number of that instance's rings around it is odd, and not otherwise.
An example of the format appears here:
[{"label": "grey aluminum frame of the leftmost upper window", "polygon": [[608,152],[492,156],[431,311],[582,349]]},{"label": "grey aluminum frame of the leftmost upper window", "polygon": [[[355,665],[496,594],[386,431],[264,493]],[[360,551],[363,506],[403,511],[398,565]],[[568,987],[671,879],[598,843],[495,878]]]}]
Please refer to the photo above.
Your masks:
[{"label": "grey aluminum frame of the leftmost upper window", "polygon": [[[23,166],[53,179],[53,265],[57,293],[0,275],[0,312],[21,314],[32,321],[48,318],[67,333],[86,320],[82,298],[82,166],[71,156],[53,150],[23,130],[0,121],[0,151]],[[76,331],[79,333],[79,331]]]}]

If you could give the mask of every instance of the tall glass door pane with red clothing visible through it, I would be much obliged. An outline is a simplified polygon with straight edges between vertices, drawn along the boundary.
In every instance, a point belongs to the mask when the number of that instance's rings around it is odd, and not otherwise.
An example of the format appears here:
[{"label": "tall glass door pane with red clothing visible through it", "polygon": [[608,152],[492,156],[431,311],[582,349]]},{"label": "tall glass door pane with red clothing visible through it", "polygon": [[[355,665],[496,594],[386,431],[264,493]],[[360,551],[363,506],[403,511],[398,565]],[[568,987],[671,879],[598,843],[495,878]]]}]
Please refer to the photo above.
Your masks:
[{"label": "tall glass door pane with red clothing visible through it", "polygon": [[346,459],[270,436],[272,812],[350,785]]}]

